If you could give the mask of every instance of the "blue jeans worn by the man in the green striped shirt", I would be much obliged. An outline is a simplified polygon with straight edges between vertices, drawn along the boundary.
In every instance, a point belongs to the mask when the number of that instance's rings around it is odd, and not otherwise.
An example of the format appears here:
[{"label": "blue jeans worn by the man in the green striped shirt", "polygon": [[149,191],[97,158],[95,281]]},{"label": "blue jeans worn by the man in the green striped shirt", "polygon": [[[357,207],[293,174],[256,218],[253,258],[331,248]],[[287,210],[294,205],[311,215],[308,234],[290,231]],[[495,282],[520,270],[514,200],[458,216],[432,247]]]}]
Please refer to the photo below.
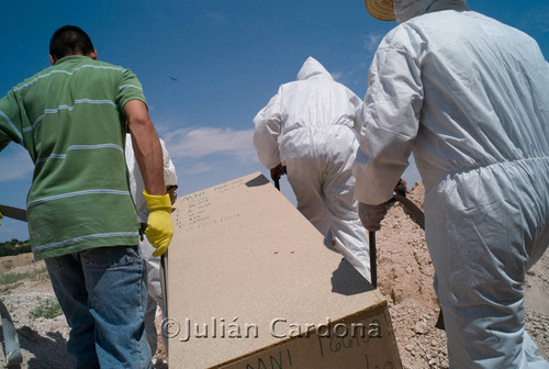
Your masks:
[{"label": "blue jeans worn by the man in the green striped shirt", "polygon": [[70,326],[77,368],[150,368],[144,315],[146,275],[138,247],[92,248],[45,260]]}]

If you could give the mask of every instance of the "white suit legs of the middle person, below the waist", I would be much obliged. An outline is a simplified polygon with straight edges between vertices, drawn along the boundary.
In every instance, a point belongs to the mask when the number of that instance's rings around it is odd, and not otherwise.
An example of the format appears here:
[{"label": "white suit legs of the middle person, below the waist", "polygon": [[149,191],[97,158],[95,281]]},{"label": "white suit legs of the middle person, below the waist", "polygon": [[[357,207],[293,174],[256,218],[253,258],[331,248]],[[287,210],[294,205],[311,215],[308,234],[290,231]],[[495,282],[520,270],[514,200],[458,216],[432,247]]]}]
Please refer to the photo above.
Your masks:
[{"label": "white suit legs of the middle person, below the waist", "polygon": [[368,237],[354,200],[355,134],[346,126],[307,133],[301,133],[303,144],[295,148],[302,155],[284,161],[298,210],[324,236],[332,231],[335,248],[371,281]]}]

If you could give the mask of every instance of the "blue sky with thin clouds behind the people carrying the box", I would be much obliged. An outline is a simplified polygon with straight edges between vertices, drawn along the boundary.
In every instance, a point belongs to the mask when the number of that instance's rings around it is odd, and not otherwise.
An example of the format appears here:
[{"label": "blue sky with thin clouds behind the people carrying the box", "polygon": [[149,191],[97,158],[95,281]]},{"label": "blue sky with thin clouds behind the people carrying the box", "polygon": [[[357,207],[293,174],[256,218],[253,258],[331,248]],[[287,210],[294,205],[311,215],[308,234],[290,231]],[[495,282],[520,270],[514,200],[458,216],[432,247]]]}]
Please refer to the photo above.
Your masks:
[{"label": "blue sky with thin clouds behind the people carrying the box", "polygon": [[[472,10],[536,38],[549,56],[547,0],[470,0]],[[168,145],[180,194],[255,171],[255,114],[295,78],[307,56],[363,98],[368,67],[396,25],[372,19],[361,0],[11,1],[0,23],[0,96],[49,66],[61,25],[82,27],[98,57],[131,68]],[[11,144],[0,153],[0,203],[25,208],[32,163]],[[412,167],[408,181],[418,179]],[[283,193],[294,202],[290,186]],[[2,220],[0,242],[26,239],[26,224]]]}]

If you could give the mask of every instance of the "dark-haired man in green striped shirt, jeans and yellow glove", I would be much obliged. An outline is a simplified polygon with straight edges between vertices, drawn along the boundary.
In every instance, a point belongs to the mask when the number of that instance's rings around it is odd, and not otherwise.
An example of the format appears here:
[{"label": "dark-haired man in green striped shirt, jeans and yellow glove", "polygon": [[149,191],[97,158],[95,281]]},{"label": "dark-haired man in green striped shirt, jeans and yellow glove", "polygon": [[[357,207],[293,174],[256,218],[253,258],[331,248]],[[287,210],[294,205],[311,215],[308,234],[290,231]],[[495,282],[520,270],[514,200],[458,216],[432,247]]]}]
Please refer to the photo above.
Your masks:
[{"label": "dark-haired man in green striped shirt, jeans and yellow glove", "polygon": [[131,70],[97,60],[76,26],[57,30],[49,52],[52,67],[0,100],[0,149],[15,142],[35,165],[27,197],[33,253],[45,259],[71,327],[76,366],[147,368],[147,293],[125,133],[145,181],[147,236],[157,255],[172,234],[161,146]]}]

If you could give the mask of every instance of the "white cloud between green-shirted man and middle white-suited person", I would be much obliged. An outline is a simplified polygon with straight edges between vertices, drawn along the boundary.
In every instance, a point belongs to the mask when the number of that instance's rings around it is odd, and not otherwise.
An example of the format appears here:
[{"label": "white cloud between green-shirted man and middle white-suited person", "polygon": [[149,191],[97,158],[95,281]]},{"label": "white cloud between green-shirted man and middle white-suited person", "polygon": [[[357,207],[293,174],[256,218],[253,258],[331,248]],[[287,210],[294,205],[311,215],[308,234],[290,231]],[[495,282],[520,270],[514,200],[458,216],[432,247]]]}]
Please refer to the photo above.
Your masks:
[{"label": "white cloud between green-shirted man and middle white-suited person", "polygon": [[243,161],[256,157],[253,137],[254,130],[215,127],[181,128],[164,136],[170,155],[175,158],[201,158],[224,154]]}]

